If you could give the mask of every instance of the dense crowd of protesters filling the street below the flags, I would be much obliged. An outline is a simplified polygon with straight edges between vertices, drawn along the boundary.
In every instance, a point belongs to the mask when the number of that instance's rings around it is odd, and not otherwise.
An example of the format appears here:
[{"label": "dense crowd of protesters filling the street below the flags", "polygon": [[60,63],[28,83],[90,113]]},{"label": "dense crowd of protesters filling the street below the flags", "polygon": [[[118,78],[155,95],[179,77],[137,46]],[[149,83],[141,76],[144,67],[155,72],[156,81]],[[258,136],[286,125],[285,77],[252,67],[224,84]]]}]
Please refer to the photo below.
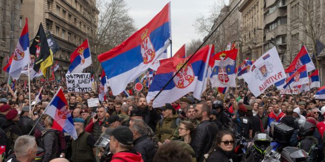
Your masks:
[{"label": "dense crowd of protesters filling the street below the flags", "polygon": [[[229,123],[236,124],[238,135],[247,140],[259,138],[259,133],[273,136],[272,125],[284,123],[294,129],[290,146],[313,155],[311,148],[317,145],[315,162],[324,160],[325,100],[314,99],[315,90],[292,96],[280,94],[272,86],[254,96],[240,86],[226,95],[209,88],[200,99],[189,93],[174,103],[153,108],[146,90],[135,91],[130,85],[130,96],[108,93],[100,106],[88,107],[88,99],[98,98],[96,92],[72,93],[64,83],[32,81],[29,94],[24,81],[15,84],[0,81],[0,151],[4,162],[229,162],[236,140],[226,129]],[[42,100],[31,104],[30,113],[29,100],[34,101],[41,86]],[[78,135],[75,140],[52,129],[56,123],[53,118],[41,115],[59,86],[73,117]],[[313,125],[310,142],[301,142],[297,120]],[[98,146],[98,139],[107,136],[107,147]]]}]

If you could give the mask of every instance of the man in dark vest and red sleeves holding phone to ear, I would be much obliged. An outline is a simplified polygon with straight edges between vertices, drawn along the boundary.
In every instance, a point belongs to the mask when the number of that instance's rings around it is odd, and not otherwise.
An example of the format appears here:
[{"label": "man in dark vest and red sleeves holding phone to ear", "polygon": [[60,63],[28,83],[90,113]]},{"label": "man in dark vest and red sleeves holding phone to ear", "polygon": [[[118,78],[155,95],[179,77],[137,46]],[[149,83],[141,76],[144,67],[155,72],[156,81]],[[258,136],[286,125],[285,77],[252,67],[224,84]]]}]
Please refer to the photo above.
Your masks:
[{"label": "man in dark vest and red sleeves holding phone to ear", "polygon": [[97,108],[97,114],[93,116],[90,123],[86,126],[85,131],[95,136],[96,140],[102,133],[102,127],[107,125],[106,111],[105,108],[99,106]]}]

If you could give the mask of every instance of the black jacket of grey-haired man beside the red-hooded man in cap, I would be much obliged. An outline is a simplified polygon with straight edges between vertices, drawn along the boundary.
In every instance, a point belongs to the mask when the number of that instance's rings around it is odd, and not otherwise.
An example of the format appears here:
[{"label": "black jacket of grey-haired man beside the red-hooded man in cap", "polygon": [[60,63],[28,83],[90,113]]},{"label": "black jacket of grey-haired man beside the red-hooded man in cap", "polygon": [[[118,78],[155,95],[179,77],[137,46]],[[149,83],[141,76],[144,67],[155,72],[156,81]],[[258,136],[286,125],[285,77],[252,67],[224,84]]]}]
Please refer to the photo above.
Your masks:
[{"label": "black jacket of grey-haired man beside the red-hooded man in cap", "polygon": [[156,149],[147,135],[141,135],[133,141],[133,149],[142,155],[143,162],[152,162]]}]

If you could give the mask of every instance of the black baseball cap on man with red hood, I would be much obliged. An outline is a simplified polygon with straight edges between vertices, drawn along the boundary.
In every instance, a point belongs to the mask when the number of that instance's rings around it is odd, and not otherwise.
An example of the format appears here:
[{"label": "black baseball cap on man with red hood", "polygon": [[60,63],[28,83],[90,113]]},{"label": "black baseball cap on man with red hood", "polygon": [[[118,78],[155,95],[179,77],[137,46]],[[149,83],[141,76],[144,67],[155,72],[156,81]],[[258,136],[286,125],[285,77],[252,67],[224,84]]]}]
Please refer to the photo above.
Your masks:
[{"label": "black baseball cap on man with red hood", "polygon": [[115,129],[106,129],[105,134],[113,135],[114,138],[125,145],[131,145],[133,143],[133,133],[129,127],[118,126]]}]

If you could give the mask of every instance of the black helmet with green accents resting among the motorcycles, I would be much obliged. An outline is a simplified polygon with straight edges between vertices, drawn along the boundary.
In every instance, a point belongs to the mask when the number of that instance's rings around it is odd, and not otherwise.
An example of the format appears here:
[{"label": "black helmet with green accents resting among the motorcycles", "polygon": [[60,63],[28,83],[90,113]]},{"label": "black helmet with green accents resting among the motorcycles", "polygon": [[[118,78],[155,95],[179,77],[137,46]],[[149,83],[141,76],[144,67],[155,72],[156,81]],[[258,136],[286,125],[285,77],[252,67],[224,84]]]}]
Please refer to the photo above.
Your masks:
[{"label": "black helmet with green accents resting among the motorcycles", "polygon": [[254,147],[258,153],[264,154],[268,146],[271,145],[271,138],[266,134],[257,134],[254,136]]}]

